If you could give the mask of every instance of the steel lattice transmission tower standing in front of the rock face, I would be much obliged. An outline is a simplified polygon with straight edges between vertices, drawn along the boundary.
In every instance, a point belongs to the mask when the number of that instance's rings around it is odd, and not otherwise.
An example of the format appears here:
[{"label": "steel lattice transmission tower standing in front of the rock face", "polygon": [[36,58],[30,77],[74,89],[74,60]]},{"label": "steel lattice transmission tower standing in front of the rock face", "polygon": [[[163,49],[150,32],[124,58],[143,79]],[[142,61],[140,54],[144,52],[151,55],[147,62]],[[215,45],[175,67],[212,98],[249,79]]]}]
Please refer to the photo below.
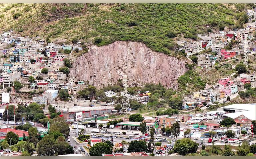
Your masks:
[{"label": "steel lattice transmission tower standing in front of the rock face", "polygon": [[127,76],[123,75],[123,99],[122,99],[122,105],[121,105],[121,110],[120,110],[120,115],[124,115],[126,116],[127,114],[132,114],[131,113],[131,107],[130,107],[130,103],[129,103],[129,97],[128,97],[128,91],[127,91]]}]

